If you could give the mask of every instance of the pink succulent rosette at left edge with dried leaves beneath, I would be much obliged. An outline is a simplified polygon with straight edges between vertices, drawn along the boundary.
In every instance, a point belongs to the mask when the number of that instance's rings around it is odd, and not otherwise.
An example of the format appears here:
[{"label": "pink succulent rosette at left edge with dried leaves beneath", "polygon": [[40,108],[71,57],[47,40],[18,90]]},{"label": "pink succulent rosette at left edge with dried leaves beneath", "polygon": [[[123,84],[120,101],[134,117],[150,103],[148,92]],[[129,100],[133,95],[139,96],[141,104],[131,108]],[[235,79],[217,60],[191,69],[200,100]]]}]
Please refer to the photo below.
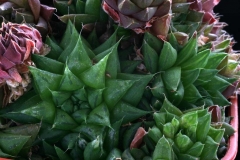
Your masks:
[{"label": "pink succulent rosette at left edge with dried leaves beneath", "polygon": [[26,90],[31,53],[39,54],[43,43],[38,30],[14,23],[2,23],[0,42],[0,87],[4,88],[6,105]]}]

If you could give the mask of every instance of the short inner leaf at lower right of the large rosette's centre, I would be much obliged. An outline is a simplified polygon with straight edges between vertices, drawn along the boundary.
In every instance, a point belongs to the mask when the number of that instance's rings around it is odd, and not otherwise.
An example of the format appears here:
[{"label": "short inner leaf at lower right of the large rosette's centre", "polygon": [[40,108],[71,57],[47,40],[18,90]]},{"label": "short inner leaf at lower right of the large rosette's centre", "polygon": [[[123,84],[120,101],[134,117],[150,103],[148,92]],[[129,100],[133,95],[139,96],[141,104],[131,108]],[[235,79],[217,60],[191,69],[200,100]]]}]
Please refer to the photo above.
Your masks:
[{"label": "short inner leaf at lower right of the large rosette's centre", "polygon": [[87,118],[87,124],[91,123],[111,127],[109,118],[108,108],[106,104],[102,103],[90,112]]}]

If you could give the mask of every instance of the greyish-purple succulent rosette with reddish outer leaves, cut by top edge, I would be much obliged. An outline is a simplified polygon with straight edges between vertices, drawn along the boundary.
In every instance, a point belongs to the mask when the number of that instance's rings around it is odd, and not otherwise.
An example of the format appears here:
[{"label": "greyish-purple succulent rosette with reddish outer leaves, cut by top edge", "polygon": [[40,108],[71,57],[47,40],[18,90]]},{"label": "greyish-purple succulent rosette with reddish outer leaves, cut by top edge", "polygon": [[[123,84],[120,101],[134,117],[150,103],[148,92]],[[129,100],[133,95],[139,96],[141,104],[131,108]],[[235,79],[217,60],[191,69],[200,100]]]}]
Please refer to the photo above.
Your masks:
[{"label": "greyish-purple succulent rosette with reddish outer leaves, cut by top edge", "polygon": [[171,22],[170,0],[104,0],[102,7],[120,26],[165,39]]}]

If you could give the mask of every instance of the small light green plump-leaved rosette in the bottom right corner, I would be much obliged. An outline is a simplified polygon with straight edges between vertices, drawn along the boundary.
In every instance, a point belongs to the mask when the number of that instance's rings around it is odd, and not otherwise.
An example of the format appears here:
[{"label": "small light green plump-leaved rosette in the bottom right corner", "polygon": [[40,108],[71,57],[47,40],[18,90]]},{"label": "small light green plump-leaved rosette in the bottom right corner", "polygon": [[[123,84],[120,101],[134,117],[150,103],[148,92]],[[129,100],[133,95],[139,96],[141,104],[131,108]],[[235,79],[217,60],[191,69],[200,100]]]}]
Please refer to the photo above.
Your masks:
[{"label": "small light green plump-leaved rosette in the bottom right corner", "polygon": [[[127,159],[218,159],[217,151],[226,128],[211,123],[208,109],[180,111],[167,99],[153,114],[155,124],[139,128],[133,139],[138,145],[126,149]],[[145,132],[145,133],[144,133]],[[140,134],[144,133],[144,134]]]}]

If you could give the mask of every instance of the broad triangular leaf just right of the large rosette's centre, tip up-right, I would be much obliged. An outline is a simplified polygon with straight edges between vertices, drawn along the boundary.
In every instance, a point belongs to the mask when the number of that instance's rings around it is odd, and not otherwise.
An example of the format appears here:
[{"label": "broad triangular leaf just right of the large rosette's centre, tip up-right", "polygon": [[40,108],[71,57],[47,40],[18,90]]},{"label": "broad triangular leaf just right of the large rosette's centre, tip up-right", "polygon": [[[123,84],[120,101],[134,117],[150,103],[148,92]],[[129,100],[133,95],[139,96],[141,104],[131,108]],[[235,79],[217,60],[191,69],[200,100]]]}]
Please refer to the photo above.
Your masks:
[{"label": "broad triangular leaf just right of the large rosette's centre, tip up-right", "polygon": [[134,82],[133,80],[120,79],[109,79],[106,81],[106,89],[103,91],[103,96],[109,110],[113,109]]}]

